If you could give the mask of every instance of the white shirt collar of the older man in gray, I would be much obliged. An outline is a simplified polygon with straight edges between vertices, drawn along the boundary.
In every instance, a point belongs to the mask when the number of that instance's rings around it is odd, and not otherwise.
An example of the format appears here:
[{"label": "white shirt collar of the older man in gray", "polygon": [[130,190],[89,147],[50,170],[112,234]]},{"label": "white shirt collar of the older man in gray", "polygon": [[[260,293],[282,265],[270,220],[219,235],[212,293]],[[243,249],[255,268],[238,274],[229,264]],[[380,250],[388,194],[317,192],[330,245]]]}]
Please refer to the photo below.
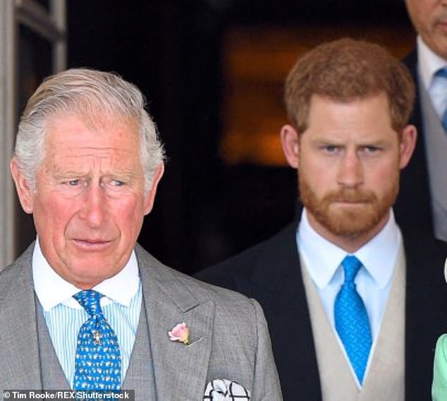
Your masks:
[{"label": "white shirt collar of the older man in gray", "polygon": [[[73,295],[80,289],[64,280],[51,268],[42,253],[39,238],[35,242],[32,253],[32,280],[37,298],[44,311],[49,311],[58,304],[65,304],[76,309],[82,308],[73,298]],[[101,299],[102,305],[116,301],[124,306],[129,306],[130,300],[137,292],[139,285],[140,275],[137,258],[135,251],[132,251],[128,263],[119,273],[100,282],[93,289],[104,295]]]}]

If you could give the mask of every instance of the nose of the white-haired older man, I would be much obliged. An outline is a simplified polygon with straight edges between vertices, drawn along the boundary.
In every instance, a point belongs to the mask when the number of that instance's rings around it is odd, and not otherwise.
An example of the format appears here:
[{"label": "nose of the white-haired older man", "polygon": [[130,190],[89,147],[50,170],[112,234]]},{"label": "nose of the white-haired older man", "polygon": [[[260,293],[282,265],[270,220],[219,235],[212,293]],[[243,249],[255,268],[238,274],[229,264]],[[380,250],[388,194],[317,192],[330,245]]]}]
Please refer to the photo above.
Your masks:
[{"label": "nose of the white-haired older man", "polygon": [[90,227],[100,227],[106,218],[107,199],[100,185],[89,184],[82,199],[80,218]]}]

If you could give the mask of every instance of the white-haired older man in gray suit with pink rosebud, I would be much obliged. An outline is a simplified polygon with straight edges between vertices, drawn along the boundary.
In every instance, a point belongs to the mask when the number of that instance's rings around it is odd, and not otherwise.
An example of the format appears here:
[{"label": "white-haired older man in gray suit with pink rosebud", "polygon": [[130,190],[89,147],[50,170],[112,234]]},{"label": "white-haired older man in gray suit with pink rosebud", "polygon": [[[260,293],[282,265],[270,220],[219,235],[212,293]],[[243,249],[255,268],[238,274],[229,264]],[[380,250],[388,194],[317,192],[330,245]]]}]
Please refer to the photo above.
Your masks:
[{"label": "white-haired older man in gray suit with pink rosebud", "polygon": [[259,304],[136,244],[164,170],[144,107],[134,85],[87,69],[27,103],[11,172],[37,240],[0,275],[0,387],[281,400]]}]

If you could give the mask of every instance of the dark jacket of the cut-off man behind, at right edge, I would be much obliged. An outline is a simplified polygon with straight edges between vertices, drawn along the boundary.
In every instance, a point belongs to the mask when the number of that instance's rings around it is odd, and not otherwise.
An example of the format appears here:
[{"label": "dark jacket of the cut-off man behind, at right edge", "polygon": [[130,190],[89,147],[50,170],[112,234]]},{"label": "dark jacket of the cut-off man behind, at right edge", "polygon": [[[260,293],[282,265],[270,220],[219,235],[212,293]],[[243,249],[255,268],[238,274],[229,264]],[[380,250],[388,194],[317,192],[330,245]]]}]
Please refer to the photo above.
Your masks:
[{"label": "dark jacket of the cut-off man behind, at right edge", "polygon": [[417,227],[420,232],[433,235],[429,173],[425,155],[416,49],[403,59],[403,64],[410,70],[416,85],[415,104],[409,122],[417,128],[417,145],[410,163],[403,169],[400,176],[400,191],[394,206],[394,212],[396,213],[396,220],[404,230]]}]

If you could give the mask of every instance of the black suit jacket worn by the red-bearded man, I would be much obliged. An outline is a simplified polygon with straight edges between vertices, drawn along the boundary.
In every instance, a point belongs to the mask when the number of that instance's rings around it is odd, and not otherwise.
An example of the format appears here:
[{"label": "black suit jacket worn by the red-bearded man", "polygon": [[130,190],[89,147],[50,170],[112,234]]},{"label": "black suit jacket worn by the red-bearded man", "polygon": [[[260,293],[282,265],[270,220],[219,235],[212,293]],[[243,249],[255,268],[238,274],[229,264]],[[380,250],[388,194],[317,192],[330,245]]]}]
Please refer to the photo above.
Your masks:
[{"label": "black suit jacket worn by the red-bearded man", "polygon": [[[254,297],[264,309],[283,397],[321,400],[314,340],[292,224],[275,237],[197,278]],[[447,333],[447,245],[432,237],[405,237],[406,400],[429,400],[434,346]]]}]

